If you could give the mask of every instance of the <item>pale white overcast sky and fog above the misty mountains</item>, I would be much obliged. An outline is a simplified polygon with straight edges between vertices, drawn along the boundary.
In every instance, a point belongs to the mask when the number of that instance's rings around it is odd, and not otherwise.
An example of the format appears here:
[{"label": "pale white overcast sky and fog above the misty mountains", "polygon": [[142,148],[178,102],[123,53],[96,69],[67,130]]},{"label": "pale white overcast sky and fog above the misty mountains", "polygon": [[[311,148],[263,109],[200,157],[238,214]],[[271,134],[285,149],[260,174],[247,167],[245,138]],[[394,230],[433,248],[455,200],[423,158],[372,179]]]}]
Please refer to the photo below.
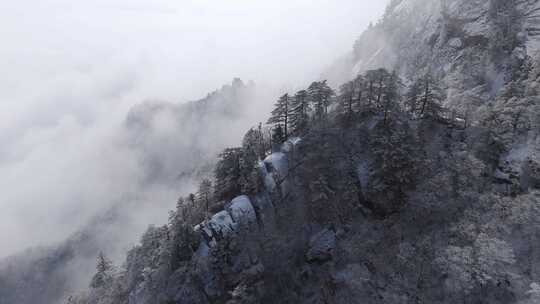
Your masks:
[{"label": "pale white overcast sky and fog above the misty mountains", "polygon": [[[132,164],[104,146],[131,105],[195,99],[233,77],[303,85],[385,3],[0,0],[0,256],[62,239],[92,201],[120,199]],[[102,182],[111,175],[126,184]]]}]

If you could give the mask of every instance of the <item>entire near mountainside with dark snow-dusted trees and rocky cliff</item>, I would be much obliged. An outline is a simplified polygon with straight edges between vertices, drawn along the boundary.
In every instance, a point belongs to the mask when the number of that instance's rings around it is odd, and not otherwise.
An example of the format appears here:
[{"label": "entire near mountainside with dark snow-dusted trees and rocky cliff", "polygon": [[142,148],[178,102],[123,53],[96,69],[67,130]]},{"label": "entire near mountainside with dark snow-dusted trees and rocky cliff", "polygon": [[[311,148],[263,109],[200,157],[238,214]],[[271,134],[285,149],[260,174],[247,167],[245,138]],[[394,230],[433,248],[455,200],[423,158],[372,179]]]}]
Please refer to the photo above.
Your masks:
[{"label": "entire near mountainside with dark snow-dusted trees and rocky cliff", "polygon": [[538,11],[392,1],[66,302],[538,303]]}]

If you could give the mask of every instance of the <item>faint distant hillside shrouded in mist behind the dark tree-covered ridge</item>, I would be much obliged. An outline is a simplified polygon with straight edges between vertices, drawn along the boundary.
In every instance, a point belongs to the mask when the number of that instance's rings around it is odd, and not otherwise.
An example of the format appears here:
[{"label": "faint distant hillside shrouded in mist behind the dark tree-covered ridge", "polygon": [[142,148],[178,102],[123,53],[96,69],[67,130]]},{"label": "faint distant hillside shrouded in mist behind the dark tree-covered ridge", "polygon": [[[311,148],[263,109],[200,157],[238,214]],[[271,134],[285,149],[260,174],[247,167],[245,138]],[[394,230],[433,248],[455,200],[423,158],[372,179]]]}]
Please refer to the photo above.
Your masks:
[{"label": "faint distant hillside shrouded in mist behind the dark tree-covered ridge", "polygon": [[0,303],[63,303],[66,294],[88,286],[100,251],[123,259],[148,224],[166,222],[178,192],[212,175],[219,151],[240,141],[234,134],[257,121],[256,99],[254,84],[235,79],[197,101],[133,107],[111,136],[136,161],[128,173],[137,183],[115,184],[121,200],[96,202],[104,209],[67,240],[0,260]]}]

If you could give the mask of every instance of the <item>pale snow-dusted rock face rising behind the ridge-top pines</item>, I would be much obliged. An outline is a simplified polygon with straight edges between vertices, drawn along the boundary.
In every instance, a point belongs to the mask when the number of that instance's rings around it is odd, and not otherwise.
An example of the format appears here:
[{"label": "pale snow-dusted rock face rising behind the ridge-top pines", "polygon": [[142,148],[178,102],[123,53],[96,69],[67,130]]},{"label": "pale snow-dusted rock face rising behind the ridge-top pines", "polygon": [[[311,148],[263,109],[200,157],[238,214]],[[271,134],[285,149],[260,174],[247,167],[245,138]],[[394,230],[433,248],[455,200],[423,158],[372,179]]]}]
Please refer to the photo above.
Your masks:
[{"label": "pale snow-dusted rock face rising behind the ridge-top pines", "polygon": [[406,80],[429,72],[444,78],[448,105],[478,106],[525,56],[538,58],[539,7],[534,0],[393,0],[325,76],[341,83],[380,67]]}]

